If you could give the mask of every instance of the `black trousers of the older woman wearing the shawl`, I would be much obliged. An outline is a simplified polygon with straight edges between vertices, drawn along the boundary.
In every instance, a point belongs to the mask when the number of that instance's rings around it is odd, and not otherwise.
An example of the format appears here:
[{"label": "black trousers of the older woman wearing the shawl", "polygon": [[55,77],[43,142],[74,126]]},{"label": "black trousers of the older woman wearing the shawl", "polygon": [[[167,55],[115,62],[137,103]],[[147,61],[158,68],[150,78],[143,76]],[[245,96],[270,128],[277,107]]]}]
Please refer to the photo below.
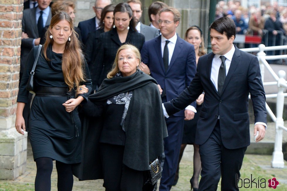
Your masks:
[{"label": "black trousers of the older woman wearing the shawl", "polygon": [[154,185],[145,185],[147,171],[131,169],[123,164],[124,146],[101,143],[103,164],[103,187],[106,191],[153,190]]}]

